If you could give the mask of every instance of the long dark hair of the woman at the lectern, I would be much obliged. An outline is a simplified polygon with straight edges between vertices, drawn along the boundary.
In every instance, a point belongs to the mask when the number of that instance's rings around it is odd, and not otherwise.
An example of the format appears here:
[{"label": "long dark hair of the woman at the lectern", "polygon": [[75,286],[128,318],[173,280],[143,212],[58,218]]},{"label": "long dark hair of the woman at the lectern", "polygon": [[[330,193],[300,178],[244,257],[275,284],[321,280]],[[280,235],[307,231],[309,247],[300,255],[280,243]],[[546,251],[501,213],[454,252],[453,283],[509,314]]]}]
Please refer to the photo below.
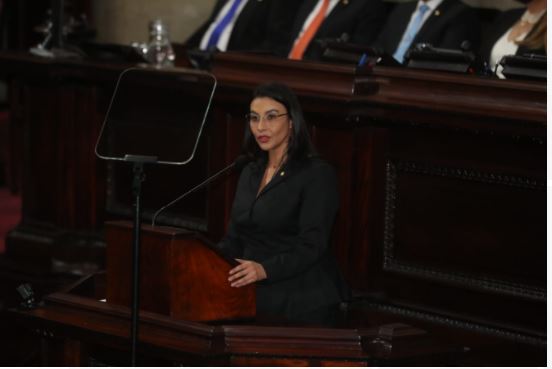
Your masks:
[{"label": "long dark hair of the woman at the lectern", "polygon": [[[299,100],[293,91],[282,83],[270,82],[257,86],[253,91],[252,100],[259,97],[268,97],[278,101],[284,105],[287,110],[288,117],[293,122],[292,132],[287,149],[288,159],[304,159],[310,156],[316,155],[316,150],[310,139],[309,131],[303,117],[303,110],[299,105]],[[266,152],[261,150],[255,137],[251,134],[251,130],[248,127],[245,128],[245,136],[243,142],[243,151],[246,155],[260,158],[267,155]]]}]

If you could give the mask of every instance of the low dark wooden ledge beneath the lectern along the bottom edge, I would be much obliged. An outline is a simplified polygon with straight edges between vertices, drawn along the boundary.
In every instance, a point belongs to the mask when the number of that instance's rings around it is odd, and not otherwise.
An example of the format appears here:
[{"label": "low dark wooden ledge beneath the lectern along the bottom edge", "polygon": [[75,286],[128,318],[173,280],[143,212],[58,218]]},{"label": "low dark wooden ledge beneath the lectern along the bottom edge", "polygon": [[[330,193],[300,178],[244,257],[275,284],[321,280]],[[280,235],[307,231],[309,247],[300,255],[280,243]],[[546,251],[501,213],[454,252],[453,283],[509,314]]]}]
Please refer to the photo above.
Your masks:
[{"label": "low dark wooden ledge beneath the lectern along the bottom edge", "polygon": [[[73,287],[49,295],[32,311],[12,311],[12,317],[47,337],[43,364],[90,365],[98,360],[96,345],[119,355],[103,364],[125,360],[129,310],[102,302],[105,276],[85,278]],[[104,291],[105,292],[105,291]],[[377,314],[377,313],[374,313]],[[354,318],[353,318],[354,319]],[[304,326],[255,319],[198,323],[165,314],[140,314],[139,357],[143,363],[171,365],[315,365],[366,366],[446,363],[461,358],[466,348],[431,332],[380,313],[380,324],[349,321],[345,315],[331,327]],[[128,353],[126,354],[128,360]]]}]

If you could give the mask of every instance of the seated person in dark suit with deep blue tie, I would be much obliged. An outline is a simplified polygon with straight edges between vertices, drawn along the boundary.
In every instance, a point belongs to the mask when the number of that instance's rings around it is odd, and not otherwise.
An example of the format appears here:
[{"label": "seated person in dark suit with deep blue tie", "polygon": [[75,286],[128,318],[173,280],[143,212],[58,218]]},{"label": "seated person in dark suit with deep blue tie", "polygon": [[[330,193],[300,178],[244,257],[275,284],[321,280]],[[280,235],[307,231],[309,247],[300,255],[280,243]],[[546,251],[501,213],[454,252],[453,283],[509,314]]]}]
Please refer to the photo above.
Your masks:
[{"label": "seated person in dark suit with deep blue tie", "polygon": [[217,0],[188,49],[259,51],[284,55],[302,0]]}]

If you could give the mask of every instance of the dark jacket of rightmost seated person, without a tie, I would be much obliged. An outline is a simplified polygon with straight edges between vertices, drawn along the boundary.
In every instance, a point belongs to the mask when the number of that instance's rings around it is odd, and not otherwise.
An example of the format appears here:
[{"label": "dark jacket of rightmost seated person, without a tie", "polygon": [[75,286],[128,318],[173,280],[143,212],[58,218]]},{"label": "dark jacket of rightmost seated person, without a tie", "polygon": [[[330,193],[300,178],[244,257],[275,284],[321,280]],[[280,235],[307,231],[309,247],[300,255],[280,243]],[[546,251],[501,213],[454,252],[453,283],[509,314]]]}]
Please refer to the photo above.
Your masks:
[{"label": "dark jacket of rightmost seated person, without a tie", "polygon": [[[502,37],[502,35],[506,33],[506,31],[512,28],[512,26],[521,18],[523,13],[525,13],[525,8],[516,8],[516,9],[507,10],[496,18],[496,20],[489,28],[489,31],[487,32],[487,35],[484,37],[483,43],[481,45],[480,53],[481,53],[481,56],[483,57],[483,60],[487,62],[490,60],[491,52],[493,50],[495,43]],[[543,15],[543,17],[545,16],[546,14]],[[531,35],[531,32],[529,32],[529,35]],[[516,51],[516,55],[523,55],[523,54],[529,54],[529,53],[546,55],[546,51],[544,50],[544,48],[530,49],[527,46],[523,46],[523,45],[520,45]]]}]

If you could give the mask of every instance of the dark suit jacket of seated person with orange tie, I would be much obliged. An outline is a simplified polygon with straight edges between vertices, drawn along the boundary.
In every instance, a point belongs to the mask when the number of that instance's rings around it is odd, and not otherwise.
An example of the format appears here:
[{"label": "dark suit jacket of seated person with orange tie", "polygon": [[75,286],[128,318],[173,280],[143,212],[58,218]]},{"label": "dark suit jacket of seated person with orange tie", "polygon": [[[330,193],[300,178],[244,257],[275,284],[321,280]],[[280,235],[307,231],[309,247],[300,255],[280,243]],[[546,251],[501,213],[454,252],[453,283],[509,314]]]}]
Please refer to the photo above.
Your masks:
[{"label": "dark suit jacket of seated person with orange tie", "polygon": [[[318,0],[305,0],[303,6],[298,10],[286,56],[291,52],[297,35],[301,32],[305,20],[317,3]],[[320,59],[324,50],[319,41],[323,39],[342,38],[351,43],[370,45],[378,36],[386,15],[387,6],[381,0],[340,1],[324,19],[305,50],[303,59]]]}]

